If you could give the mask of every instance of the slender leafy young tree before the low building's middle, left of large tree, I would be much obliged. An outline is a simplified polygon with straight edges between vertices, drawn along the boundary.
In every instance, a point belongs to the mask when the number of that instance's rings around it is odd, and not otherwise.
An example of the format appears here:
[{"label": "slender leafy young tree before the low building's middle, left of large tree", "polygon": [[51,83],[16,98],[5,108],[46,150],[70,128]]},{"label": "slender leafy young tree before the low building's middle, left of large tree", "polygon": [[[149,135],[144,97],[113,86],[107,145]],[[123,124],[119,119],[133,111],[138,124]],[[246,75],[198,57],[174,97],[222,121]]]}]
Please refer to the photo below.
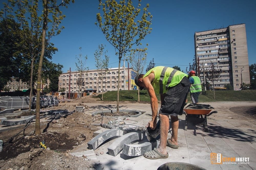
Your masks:
[{"label": "slender leafy young tree before the low building's middle, left of large tree", "polygon": [[106,79],[106,73],[109,67],[109,56],[106,55],[108,50],[104,51],[104,47],[105,45],[103,44],[99,45],[98,50],[95,50],[94,53],[95,66],[98,70],[99,81],[101,81],[101,100],[103,100],[103,80]]}]

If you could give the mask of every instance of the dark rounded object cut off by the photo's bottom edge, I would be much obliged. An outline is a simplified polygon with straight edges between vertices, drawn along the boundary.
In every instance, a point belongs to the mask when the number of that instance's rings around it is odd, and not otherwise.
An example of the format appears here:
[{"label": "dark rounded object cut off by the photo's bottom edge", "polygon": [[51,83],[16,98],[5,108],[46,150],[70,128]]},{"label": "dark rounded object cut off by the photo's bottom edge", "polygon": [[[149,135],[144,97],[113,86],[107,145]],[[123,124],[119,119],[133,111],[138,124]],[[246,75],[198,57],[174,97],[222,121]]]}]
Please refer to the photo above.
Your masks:
[{"label": "dark rounded object cut off by the photo's bottom edge", "polygon": [[206,170],[197,165],[185,163],[185,162],[167,162],[157,168],[157,170]]}]

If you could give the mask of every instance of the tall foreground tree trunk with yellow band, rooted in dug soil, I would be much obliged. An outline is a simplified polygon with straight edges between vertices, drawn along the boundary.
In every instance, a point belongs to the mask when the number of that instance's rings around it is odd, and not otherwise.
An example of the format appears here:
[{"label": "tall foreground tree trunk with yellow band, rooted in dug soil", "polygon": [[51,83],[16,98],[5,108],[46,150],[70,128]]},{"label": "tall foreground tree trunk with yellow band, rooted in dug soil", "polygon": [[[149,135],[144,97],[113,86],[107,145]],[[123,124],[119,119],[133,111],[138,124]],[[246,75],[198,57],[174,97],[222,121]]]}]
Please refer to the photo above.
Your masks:
[{"label": "tall foreground tree trunk with yellow band, rooted in dug soil", "polygon": [[35,135],[40,135],[40,89],[41,89],[41,72],[42,72],[42,65],[45,55],[45,36],[46,36],[46,29],[47,29],[47,17],[48,17],[48,8],[47,8],[47,0],[43,0],[44,6],[44,23],[42,29],[42,51],[39,59],[38,64],[38,71],[37,71],[37,88],[36,88],[36,125],[35,125]]}]

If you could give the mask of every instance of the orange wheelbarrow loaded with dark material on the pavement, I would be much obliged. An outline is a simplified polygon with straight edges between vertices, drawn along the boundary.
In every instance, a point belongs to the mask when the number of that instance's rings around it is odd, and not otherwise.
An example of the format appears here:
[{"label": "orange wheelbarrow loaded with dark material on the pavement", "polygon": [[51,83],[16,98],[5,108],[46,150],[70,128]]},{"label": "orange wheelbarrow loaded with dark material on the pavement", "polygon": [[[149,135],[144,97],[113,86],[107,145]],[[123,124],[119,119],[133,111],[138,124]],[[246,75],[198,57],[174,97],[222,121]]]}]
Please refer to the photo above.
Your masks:
[{"label": "orange wheelbarrow loaded with dark material on the pavement", "polygon": [[207,117],[213,113],[218,113],[217,111],[212,111],[214,108],[207,104],[187,104],[183,110],[186,115],[184,130],[188,129],[188,119],[201,119],[205,132],[208,132]]}]

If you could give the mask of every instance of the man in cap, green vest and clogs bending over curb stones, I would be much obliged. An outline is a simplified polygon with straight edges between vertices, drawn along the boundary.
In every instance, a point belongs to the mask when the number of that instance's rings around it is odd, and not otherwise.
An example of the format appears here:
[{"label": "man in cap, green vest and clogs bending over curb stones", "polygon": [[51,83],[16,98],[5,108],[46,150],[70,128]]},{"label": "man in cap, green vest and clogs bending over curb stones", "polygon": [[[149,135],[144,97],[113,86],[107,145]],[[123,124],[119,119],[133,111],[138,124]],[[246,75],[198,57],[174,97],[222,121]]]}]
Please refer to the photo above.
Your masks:
[{"label": "man in cap, green vest and clogs bending over curb stones", "polygon": [[[157,66],[146,74],[139,74],[134,79],[135,84],[142,90],[146,88],[151,100],[152,120],[148,127],[156,128],[158,100],[156,93],[161,96],[160,118],[160,144],[158,148],[144,154],[148,159],[168,158],[166,145],[178,148],[178,114],[183,112],[188,95],[190,82],[188,75],[170,67]],[[167,140],[169,130],[169,116],[172,123],[172,137]]]}]

